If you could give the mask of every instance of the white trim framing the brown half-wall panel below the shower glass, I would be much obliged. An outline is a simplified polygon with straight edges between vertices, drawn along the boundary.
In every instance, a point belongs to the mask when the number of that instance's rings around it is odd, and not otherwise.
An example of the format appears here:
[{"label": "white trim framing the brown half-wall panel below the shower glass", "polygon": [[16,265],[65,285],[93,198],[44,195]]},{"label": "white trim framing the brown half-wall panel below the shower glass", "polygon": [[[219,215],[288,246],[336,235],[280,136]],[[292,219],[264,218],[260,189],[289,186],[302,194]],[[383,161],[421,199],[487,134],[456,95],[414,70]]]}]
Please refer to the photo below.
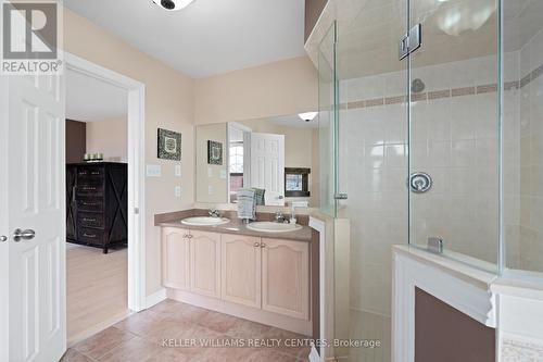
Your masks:
[{"label": "white trim framing the brown half-wall panel below the shower glass", "polygon": [[415,361],[415,287],[496,327],[495,275],[407,246],[393,249],[392,361]]}]

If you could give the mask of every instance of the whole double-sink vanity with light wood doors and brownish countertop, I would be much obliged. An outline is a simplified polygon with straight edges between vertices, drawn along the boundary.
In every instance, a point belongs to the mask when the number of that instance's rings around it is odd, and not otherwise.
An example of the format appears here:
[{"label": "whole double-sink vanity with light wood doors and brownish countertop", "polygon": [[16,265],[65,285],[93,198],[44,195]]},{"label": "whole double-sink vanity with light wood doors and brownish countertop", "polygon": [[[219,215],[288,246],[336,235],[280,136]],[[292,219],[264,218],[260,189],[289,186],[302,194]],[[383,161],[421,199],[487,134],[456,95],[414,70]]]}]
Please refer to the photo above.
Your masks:
[{"label": "whole double-sink vanity with light wood doors and brownish countertop", "polygon": [[194,209],[155,216],[168,298],[314,335],[318,233],[307,226],[308,217],[288,224],[257,213],[258,222],[247,224],[236,212],[207,213]]}]

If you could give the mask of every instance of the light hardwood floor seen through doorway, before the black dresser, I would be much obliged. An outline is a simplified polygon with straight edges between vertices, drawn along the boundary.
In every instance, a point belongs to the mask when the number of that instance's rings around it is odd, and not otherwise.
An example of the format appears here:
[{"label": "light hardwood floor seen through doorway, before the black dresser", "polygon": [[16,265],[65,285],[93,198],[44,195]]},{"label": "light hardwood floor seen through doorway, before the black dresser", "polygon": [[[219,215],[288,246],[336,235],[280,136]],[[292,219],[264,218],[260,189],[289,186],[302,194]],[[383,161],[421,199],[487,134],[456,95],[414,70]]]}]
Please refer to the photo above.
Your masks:
[{"label": "light hardwood floor seen through doorway, before the black dresser", "polygon": [[127,249],[68,244],[66,248],[67,342],[85,339],[128,315]]}]

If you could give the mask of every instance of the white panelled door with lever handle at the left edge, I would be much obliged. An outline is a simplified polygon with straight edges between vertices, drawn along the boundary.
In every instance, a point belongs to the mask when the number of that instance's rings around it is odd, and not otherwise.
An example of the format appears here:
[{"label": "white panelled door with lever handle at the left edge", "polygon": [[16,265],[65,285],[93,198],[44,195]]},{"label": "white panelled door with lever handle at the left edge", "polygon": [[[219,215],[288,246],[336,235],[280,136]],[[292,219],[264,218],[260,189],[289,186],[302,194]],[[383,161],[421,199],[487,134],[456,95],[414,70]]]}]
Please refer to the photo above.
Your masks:
[{"label": "white panelled door with lever handle at the left edge", "polygon": [[2,89],[8,146],[0,158],[8,176],[0,179],[0,236],[7,239],[0,250],[9,263],[0,299],[9,305],[0,314],[8,333],[0,357],[59,361],[66,350],[64,85],[61,76],[11,76]]}]

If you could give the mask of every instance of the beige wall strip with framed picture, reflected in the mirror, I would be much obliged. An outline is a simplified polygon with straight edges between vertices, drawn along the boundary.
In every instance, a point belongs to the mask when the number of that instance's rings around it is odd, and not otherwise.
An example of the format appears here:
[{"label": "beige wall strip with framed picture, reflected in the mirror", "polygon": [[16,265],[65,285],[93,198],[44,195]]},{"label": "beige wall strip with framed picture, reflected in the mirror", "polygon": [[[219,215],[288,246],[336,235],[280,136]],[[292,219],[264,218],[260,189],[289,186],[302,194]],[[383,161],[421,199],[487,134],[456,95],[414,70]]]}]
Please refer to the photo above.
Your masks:
[{"label": "beige wall strip with framed picture, reflected in the mirror", "polygon": [[[199,202],[228,202],[228,172],[226,123],[197,127],[197,200]],[[223,164],[207,164],[207,141],[223,143]]]}]

